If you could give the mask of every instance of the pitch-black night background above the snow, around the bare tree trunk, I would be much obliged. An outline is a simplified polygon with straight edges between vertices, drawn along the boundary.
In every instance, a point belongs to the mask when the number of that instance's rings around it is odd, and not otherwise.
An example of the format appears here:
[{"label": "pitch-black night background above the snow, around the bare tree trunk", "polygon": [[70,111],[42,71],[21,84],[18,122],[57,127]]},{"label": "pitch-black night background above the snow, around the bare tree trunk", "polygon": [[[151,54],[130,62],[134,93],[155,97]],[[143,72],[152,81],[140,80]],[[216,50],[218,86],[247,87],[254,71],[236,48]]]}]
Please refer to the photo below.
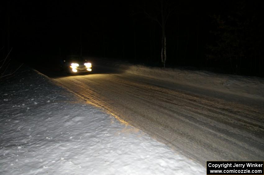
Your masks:
[{"label": "pitch-black night background above the snow, around the bare tree trunk", "polygon": [[[82,54],[162,66],[162,30],[146,15],[160,20],[160,1],[2,2],[1,57],[13,48],[25,63]],[[166,67],[264,76],[263,1],[164,3],[174,9]]]}]

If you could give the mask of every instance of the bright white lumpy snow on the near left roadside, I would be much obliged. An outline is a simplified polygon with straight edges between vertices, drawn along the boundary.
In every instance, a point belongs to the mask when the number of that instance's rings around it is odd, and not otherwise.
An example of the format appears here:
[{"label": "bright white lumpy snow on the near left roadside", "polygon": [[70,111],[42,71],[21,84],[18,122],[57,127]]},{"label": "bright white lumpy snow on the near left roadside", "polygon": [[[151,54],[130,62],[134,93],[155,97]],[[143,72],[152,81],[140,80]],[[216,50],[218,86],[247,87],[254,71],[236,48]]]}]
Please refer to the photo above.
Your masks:
[{"label": "bright white lumpy snow on the near left roadside", "polygon": [[17,74],[0,82],[0,174],[205,174],[46,76]]}]

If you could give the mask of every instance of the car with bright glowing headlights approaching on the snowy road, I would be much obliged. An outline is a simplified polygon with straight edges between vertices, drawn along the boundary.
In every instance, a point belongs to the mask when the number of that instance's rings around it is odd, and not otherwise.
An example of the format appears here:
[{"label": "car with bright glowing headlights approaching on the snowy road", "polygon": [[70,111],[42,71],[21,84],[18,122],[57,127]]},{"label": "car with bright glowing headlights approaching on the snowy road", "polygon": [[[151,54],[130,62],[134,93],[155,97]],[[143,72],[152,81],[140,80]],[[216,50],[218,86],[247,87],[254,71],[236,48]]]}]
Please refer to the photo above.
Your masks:
[{"label": "car with bright glowing headlights approaching on the snowy road", "polygon": [[66,60],[63,60],[63,62],[63,67],[67,73],[92,72],[92,63],[80,56],[67,56]]}]

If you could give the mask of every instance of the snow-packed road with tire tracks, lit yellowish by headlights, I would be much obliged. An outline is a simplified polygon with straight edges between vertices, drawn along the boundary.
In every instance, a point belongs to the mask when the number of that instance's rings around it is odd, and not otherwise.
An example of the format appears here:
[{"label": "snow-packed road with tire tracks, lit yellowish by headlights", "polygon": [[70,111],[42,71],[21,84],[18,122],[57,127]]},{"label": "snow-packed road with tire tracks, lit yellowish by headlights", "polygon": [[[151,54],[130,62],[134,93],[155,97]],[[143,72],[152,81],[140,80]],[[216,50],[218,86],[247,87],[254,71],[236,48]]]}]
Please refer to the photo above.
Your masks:
[{"label": "snow-packed road with tire tracks, lit yellowish by headlights", "polygon": [[204,166],[208,160],[264,158],[262,101],[207,91],[201,95],[195,89],[192,93],[190,87],[127,74],[94,73],[54,80]]}]

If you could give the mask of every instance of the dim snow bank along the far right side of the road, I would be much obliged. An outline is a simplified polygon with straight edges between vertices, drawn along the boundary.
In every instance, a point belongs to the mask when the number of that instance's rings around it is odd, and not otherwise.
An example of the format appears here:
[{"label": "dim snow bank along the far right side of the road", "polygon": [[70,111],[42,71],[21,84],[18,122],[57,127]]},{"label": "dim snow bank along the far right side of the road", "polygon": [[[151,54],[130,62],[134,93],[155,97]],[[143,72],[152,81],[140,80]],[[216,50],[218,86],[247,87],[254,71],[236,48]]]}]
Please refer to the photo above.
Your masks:
[{"label": "dim snow bank along the far right side of the road", "polygon": [[123,73],[158,79],[179,85],[215,90],[229,94],[264,99],[264,79],[238,75],[217,74],[207,71],[181,70],[133,65],[121,61],[103,59],[101,66],[118,68]]}]

